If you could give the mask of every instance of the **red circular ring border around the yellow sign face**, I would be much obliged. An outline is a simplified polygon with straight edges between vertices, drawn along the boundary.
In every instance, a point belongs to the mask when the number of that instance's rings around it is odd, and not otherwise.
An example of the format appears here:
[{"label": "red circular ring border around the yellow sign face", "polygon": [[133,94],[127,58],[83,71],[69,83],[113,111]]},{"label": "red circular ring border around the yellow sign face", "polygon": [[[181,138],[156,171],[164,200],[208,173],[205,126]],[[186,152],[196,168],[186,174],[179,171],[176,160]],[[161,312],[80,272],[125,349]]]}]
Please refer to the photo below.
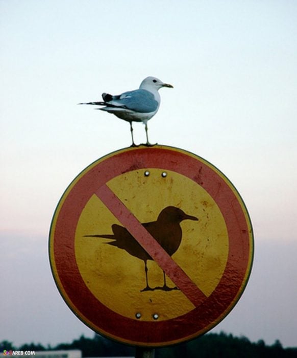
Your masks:
[{"label": "red circular ring border around the yellow sign face", "polygon": [[[95,162],[96,163],[96,162]],[[174,149],[135,148],[115,152],[87,167],[70,192],[61,199],[54,228],[54,259],[60,282],[75,314],[110,338],[135,345],[162,346],[204,333],[232,309],[247,280],[251,259],[250,228],[233,190],[214,169],[198,158]],[[187,314],[166,321],[138,321],[112,311],[90,292],[76,262],[75,234],[81,212],[94,192],[112,178],[131,170],[158,168],[187,176],[215,200],[229,235],[229,255],[213,293]],[[75,180],[75,181],[76,181]],[[62,201],[64,199],[64,201]],[[67,301],[67,299],[66,299]],[[226,313],[227,311],[227,313]]]}]

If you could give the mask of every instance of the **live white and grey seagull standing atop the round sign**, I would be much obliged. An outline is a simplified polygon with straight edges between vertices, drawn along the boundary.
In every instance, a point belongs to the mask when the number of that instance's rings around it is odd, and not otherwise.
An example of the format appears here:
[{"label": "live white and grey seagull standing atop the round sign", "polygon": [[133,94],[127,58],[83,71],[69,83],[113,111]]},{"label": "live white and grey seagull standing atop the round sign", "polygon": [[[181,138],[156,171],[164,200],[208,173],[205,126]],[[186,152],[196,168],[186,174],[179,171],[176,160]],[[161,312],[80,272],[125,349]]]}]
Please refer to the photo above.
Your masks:
[{"label": "live white and grey seagull standing atop the round sign", "polygon": [[162,87],[173,88],[169,83],[164,83],[156,77],[146,77],[134,91],[124,92],[121,95],[103,93],[103,102],[87,102],[79,104],[94,104],[104,106],[101,109],[112,113],[116,117],[130,123],[132,146],[136,146],[133,138],[132,122],[142,122],[145,125],[146,145],[152,145],[147,135],[147,121],[157,113],[161,98],[159,89]]}]

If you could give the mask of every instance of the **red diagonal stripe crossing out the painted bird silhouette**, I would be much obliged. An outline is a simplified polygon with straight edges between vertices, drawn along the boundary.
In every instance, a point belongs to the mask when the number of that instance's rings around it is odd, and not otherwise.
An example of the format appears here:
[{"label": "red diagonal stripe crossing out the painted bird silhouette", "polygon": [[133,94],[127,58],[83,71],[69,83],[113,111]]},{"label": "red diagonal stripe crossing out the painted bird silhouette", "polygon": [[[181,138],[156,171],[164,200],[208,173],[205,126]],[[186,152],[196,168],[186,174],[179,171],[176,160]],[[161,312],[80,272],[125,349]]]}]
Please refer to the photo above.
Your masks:
[{"label": "red diagonal stripe crossing out the painted bird silhouette", "polygon": [[105,184],[95,194],[139,242],[142,248],[157,262],[165,274],[179,287],[182,293],[197,307],[206,300],[204,293],[188,277],[181,267],[167,254],[141,222],[128,210],[120,199]]}]

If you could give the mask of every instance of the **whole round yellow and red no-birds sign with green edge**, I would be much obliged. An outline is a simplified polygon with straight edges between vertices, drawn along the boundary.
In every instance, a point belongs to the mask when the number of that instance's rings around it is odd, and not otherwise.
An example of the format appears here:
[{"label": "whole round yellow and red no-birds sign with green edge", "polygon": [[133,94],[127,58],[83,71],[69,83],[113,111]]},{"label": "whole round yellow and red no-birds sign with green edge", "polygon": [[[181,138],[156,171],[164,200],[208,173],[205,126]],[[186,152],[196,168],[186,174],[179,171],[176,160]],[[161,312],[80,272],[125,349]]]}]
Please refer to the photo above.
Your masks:
[{"label": "whole round yellow and red no-birds sign with green edge", "polygon": [[86,325],[161,347],[207,332],[234,307],[251,272],[252,225],[237,190],[204,159],[130,147],[98,159],[66,189],[50,261]]}]

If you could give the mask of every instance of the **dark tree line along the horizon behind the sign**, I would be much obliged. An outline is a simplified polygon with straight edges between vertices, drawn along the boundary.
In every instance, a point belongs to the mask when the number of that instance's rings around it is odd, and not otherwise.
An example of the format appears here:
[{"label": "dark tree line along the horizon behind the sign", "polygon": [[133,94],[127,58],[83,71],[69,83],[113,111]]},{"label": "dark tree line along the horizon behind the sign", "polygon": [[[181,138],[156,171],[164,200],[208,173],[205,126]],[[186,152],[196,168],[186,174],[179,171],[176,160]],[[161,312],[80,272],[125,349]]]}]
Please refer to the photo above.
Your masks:
[{"label": "dark tree line along the horizon behind the sign", "polygon": [[[98,334],[94,338],[85,338],[82,335],[72,343],[60,343],[55,347],[41,344],[23,344],[13,346],[12,342],[0,342],[0,353],[3,350],[68,350],[80,349],[83,357],[100,356],[134,356],[135,348],[110,341]],[[263,340],[252,343],[245,337],[233,337],[232,334],[221,332],[208,333],[187,343],[167,348],[157,348],[156,358],[297,358],[296,348],[283,348],[280,341],[271,346]]]}]

